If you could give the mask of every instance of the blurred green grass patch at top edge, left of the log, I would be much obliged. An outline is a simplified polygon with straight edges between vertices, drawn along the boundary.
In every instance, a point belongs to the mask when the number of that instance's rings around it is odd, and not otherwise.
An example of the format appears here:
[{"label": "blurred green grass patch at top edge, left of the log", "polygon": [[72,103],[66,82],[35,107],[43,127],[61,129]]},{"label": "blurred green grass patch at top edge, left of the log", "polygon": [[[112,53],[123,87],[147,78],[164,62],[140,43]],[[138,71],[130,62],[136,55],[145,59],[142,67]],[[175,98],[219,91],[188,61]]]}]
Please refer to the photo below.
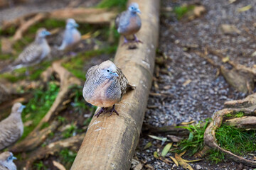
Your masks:
[{"label": "blurred green grass patch at top edge, left of the log", "polygon": [[124,11],[126,8],[127,0],[102,0],[97,4],[97,8],[112,8],[117,7],[119,11]]}]

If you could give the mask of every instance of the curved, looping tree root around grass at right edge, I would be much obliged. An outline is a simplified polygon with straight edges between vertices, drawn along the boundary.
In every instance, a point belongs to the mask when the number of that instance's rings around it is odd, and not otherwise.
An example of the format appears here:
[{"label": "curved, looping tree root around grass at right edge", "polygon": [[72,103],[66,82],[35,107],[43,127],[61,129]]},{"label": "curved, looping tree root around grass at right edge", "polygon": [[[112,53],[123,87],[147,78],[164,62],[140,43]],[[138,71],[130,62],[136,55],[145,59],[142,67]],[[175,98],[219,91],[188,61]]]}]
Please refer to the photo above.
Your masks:
[{"label": "curved, looping tree root around grass at right edge", "polygon": [[[218,111],[213,116],[213,121],[208,125],[204,133],[205,144],[213,149],[218,149],[220,152],[225,153],[230,159],[235,162],[245,164],[247,166],[256,167],[256,162],[252,160],[240,157],[232,152],[221,148],[215,138],[215,130],[220,128],[222,123],[227,123],[228,125],[235,126],[238,128],[251,128],[255,129],[256,125],[256,101],[252,102],[252,98],[255,98],[255,94],[247,96],[247,98],[238,101],[229,101],[225,103],[225,106],[238,106],[239,108],[224,108]],[[226,115],[235,115],[238,112],[244,113],[245,116],[242,118],[231,118],[228,119]]]}]

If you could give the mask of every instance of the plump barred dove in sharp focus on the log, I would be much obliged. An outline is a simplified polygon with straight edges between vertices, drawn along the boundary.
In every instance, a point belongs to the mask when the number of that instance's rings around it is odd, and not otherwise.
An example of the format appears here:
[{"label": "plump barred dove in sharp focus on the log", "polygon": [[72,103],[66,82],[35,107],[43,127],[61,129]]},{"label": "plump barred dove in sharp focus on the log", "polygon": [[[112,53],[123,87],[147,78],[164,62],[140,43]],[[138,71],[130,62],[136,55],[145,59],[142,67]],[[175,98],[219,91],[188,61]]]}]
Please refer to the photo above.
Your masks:
[{"label": "plump barred dove in sharp focus on the log", "polygon": [[[88,103],[101,107],[95,116],[99,117],[100,114],[107,112],[112,115],[113,112],[117,113],[114,104],[121,101],[127,89],[134,89],[134,86],[128,84],[121,69],[107,60],[88,69],[82,96]],[[109,107],[112,107],[110,111],[107,109]]]}]

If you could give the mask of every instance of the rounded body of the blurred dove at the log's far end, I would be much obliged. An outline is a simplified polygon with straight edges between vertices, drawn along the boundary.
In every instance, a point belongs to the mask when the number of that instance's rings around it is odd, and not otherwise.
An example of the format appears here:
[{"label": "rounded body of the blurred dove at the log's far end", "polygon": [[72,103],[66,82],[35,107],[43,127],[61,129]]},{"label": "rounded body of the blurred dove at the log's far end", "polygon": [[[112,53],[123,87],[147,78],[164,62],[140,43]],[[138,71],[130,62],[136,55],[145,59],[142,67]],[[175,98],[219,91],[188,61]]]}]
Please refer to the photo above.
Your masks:
[{"label": "rounded body of the blurred dove at the log's far end", "polygon": [[117,31],[122,35],[137,33],[142,27],[142,20],[137,13],[127,10],[120,13],[115,20]]}]

